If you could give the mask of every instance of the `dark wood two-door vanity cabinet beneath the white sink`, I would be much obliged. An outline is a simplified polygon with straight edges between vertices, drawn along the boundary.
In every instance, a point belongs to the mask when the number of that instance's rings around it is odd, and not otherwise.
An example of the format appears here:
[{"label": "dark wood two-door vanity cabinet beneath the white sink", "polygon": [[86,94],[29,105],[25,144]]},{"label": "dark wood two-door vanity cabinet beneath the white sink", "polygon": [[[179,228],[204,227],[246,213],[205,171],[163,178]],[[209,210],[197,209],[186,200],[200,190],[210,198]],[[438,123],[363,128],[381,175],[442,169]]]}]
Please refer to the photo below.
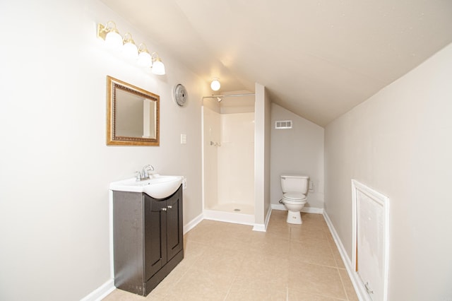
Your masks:
[{"label": "dark wood two-door vanity cabinet beneath the white sink", "polygon": [[184,258],[182,186],[166,199],[113,191],[114,285],[148,295]]}]

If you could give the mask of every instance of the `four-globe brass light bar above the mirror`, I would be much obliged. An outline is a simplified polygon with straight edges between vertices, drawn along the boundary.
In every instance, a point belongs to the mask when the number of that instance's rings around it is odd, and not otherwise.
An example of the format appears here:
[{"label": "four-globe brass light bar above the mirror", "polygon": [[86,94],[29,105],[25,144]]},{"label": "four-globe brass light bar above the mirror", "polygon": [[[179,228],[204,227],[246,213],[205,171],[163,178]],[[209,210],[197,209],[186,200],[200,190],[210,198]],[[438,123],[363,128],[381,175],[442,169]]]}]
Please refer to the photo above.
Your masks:
[{"label": "four-globe brass light bar above the mirror", "polygon": [[154,74],[164,75],[165,65],[162,63],[157,52],[149,53],[145,44],[141,43],[136,47],[135,41],[130,33],[125,33],[124,37],[119,34],[116,24],[108,21],[105,25],[97,24],[97,37],[105,41],[109,49],[121,49],[125,57],[136,59],[139,66],[150,68]]}]

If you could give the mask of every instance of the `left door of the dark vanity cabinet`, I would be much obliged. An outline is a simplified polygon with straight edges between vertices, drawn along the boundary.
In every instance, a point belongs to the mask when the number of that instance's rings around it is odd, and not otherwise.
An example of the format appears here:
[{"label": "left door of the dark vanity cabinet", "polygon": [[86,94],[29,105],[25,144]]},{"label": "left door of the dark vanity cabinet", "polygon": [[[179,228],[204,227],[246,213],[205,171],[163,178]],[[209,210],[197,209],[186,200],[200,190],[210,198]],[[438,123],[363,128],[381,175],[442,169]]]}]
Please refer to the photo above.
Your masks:
[{"label": "left door of the dark vanity cabinet", "polygon": [[167,263],[167,202],[145,195],[145,281]]}]

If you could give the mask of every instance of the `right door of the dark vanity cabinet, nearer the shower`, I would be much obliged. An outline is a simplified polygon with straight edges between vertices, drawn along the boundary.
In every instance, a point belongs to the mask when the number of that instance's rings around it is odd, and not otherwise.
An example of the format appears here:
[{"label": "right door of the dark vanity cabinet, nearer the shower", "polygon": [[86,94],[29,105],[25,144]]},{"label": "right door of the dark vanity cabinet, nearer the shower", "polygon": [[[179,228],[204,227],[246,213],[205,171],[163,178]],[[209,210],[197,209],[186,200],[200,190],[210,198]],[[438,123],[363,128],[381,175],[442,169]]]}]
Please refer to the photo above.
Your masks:
[{"label": "right door of the dark vanity cabinet, nearer the shower", "polygon": [[182,221],[182,187],[167,199],[167,254],[168,260],[184,247]]}]

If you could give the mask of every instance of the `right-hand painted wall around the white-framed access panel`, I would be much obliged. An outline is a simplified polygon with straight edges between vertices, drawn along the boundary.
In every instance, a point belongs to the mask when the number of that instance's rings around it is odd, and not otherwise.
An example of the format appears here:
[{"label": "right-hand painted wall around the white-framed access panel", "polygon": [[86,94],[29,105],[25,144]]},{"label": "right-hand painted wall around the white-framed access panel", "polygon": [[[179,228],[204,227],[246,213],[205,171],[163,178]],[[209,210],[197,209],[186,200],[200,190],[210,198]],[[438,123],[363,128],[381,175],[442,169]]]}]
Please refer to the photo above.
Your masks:
[{"label": "right-hand painted wall around the white-framed access panel", "polygon": [[326,126],[325,208],[352,252],[351,179],[390,199],[388,300],[452,300],[452,45]]}]

